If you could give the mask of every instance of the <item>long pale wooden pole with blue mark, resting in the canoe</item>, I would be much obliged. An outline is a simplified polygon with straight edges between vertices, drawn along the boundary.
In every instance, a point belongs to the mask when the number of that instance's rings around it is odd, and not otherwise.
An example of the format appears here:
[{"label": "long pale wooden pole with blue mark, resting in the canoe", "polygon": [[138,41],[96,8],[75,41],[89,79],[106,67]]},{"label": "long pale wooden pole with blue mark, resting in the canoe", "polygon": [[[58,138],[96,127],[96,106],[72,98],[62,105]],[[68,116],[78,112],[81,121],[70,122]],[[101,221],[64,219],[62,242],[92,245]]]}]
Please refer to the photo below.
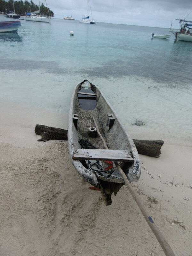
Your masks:
[{"label": "long pale wooden pole with blue mark, resting in the canoe", "polygon": [[[101,140],[103,141],[104,147],[106,149],[109,149],[107,144],[106,144],[106,142],[105,142],[105,140],[103,139],[102,135],[100,134],[99,127],[98,127],[98,125],[97,125],[97,123],[95,121],[94,116],[92,116],[92,118],[93,118],[95,127],[97,128],[97,132],[98,132]],[[125,175],[124,171],[121,169],[121,167],[119,166],[119,164],[117,162],[115,162],[115,165],[116,165],[116,168],[118,169],[119,173],[123,177],[126,187],[129,189],[129,191],[132,194],[133,198],[135,199],[137,205],[139,206],[140,211],[142,212],[142,214],[143,214],[145,220],[147,221],[149,227],[151,228],[151,230],[153,231],[154,235],[156,236],[156,239],[158,240],[159,244],[161,245],[165,255],[166,256],[175,256],[171,246],[167,243],[167,241],[165,240],[163,234],[161,233],[159,228],[157,228],[157,226],[154,223],[153,219],[149,215],[148,211],[146,210],[144,205],[140,202],[140,199],[139,199],[138,195],[135,193],[134,189],[132,188],[131,183],[127,179],[127,176]]]}]

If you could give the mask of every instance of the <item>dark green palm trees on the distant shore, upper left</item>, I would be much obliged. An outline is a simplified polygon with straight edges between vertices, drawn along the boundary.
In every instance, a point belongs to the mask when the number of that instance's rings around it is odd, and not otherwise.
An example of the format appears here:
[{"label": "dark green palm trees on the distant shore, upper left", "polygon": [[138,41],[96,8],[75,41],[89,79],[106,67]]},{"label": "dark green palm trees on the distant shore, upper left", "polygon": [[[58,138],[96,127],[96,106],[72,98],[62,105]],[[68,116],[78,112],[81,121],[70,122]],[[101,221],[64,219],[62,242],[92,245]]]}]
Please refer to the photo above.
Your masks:
[{"label": "dark green palm trees on the distant shore, upper left", "polygon": [[[35,12],[39,10],[39,5],[34,4],[32,0],[30,2],[28,2],[27,0],[25,2],[23,2],[22,0],[19,0],[19,1],[14,1],[14,8],[15,8],[15,13],[20,14],[21,16],[25,16],[25,12]],[[43,3],[41,4],[40,9],[41,9],[41,14],[54,17],[54,13],[49,8],[44,6]],[[13,9],[12,0],[9,0],[9,1],[0,0],[0,12],[9,13],[9,12],[13,12],[13,10],[14,9]]]}]

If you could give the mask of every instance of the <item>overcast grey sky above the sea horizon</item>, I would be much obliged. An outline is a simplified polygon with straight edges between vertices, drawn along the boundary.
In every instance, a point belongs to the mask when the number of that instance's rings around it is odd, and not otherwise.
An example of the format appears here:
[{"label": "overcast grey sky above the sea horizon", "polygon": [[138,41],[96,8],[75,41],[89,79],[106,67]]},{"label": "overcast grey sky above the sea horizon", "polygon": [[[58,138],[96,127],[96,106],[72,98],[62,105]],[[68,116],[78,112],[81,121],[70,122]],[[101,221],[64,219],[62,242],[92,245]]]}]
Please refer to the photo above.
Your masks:
[{"label": "overcast grey sky above the sea horizon", "polygon": [[[37,0],[33,1],[38,4]],[[46,2],[54,12],[54,18],[72,16],[81,20],[88,15],[88,0]],[[90,5],[92,18],[97,22],[169,28],[173,20],[174,28],[178,28],[175,19],[192,19],[192,0],[90,0]]]}]

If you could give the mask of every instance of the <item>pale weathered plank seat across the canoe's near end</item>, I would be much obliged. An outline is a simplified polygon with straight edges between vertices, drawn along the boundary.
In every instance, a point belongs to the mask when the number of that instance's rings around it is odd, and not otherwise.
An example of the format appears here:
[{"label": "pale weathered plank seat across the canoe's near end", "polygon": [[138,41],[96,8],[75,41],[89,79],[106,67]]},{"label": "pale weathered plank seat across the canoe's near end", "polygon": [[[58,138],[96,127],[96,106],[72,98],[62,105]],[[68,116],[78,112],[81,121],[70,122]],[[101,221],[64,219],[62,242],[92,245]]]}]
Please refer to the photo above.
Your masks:
[{"label": "pale weathered plank seat across the canoe's near end", "polygon": [[108,161],[123,161],[133,162],[134,159],[126,150],[113,149],[84,149],[79,148],[73,154],[73,159],[92,159],[92,160],[108,160]]}]

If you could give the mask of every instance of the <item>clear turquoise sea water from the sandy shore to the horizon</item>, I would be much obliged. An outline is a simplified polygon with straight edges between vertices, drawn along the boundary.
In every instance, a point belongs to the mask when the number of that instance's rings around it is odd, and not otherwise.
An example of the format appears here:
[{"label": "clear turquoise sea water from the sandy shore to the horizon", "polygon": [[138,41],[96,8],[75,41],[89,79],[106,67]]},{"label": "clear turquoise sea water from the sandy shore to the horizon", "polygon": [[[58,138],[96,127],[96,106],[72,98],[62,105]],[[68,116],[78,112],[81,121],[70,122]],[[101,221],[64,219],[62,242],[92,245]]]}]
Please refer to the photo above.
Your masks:
[{"label": "clear turquoise sea water from the sandy shore to the horizon", "polygon": [[132,138],[192,146],[192,43],[151,39],[168,28],[61,19],[21,25],[0,35],[0,100],[68,115],[75,85],[88,79]]}]

